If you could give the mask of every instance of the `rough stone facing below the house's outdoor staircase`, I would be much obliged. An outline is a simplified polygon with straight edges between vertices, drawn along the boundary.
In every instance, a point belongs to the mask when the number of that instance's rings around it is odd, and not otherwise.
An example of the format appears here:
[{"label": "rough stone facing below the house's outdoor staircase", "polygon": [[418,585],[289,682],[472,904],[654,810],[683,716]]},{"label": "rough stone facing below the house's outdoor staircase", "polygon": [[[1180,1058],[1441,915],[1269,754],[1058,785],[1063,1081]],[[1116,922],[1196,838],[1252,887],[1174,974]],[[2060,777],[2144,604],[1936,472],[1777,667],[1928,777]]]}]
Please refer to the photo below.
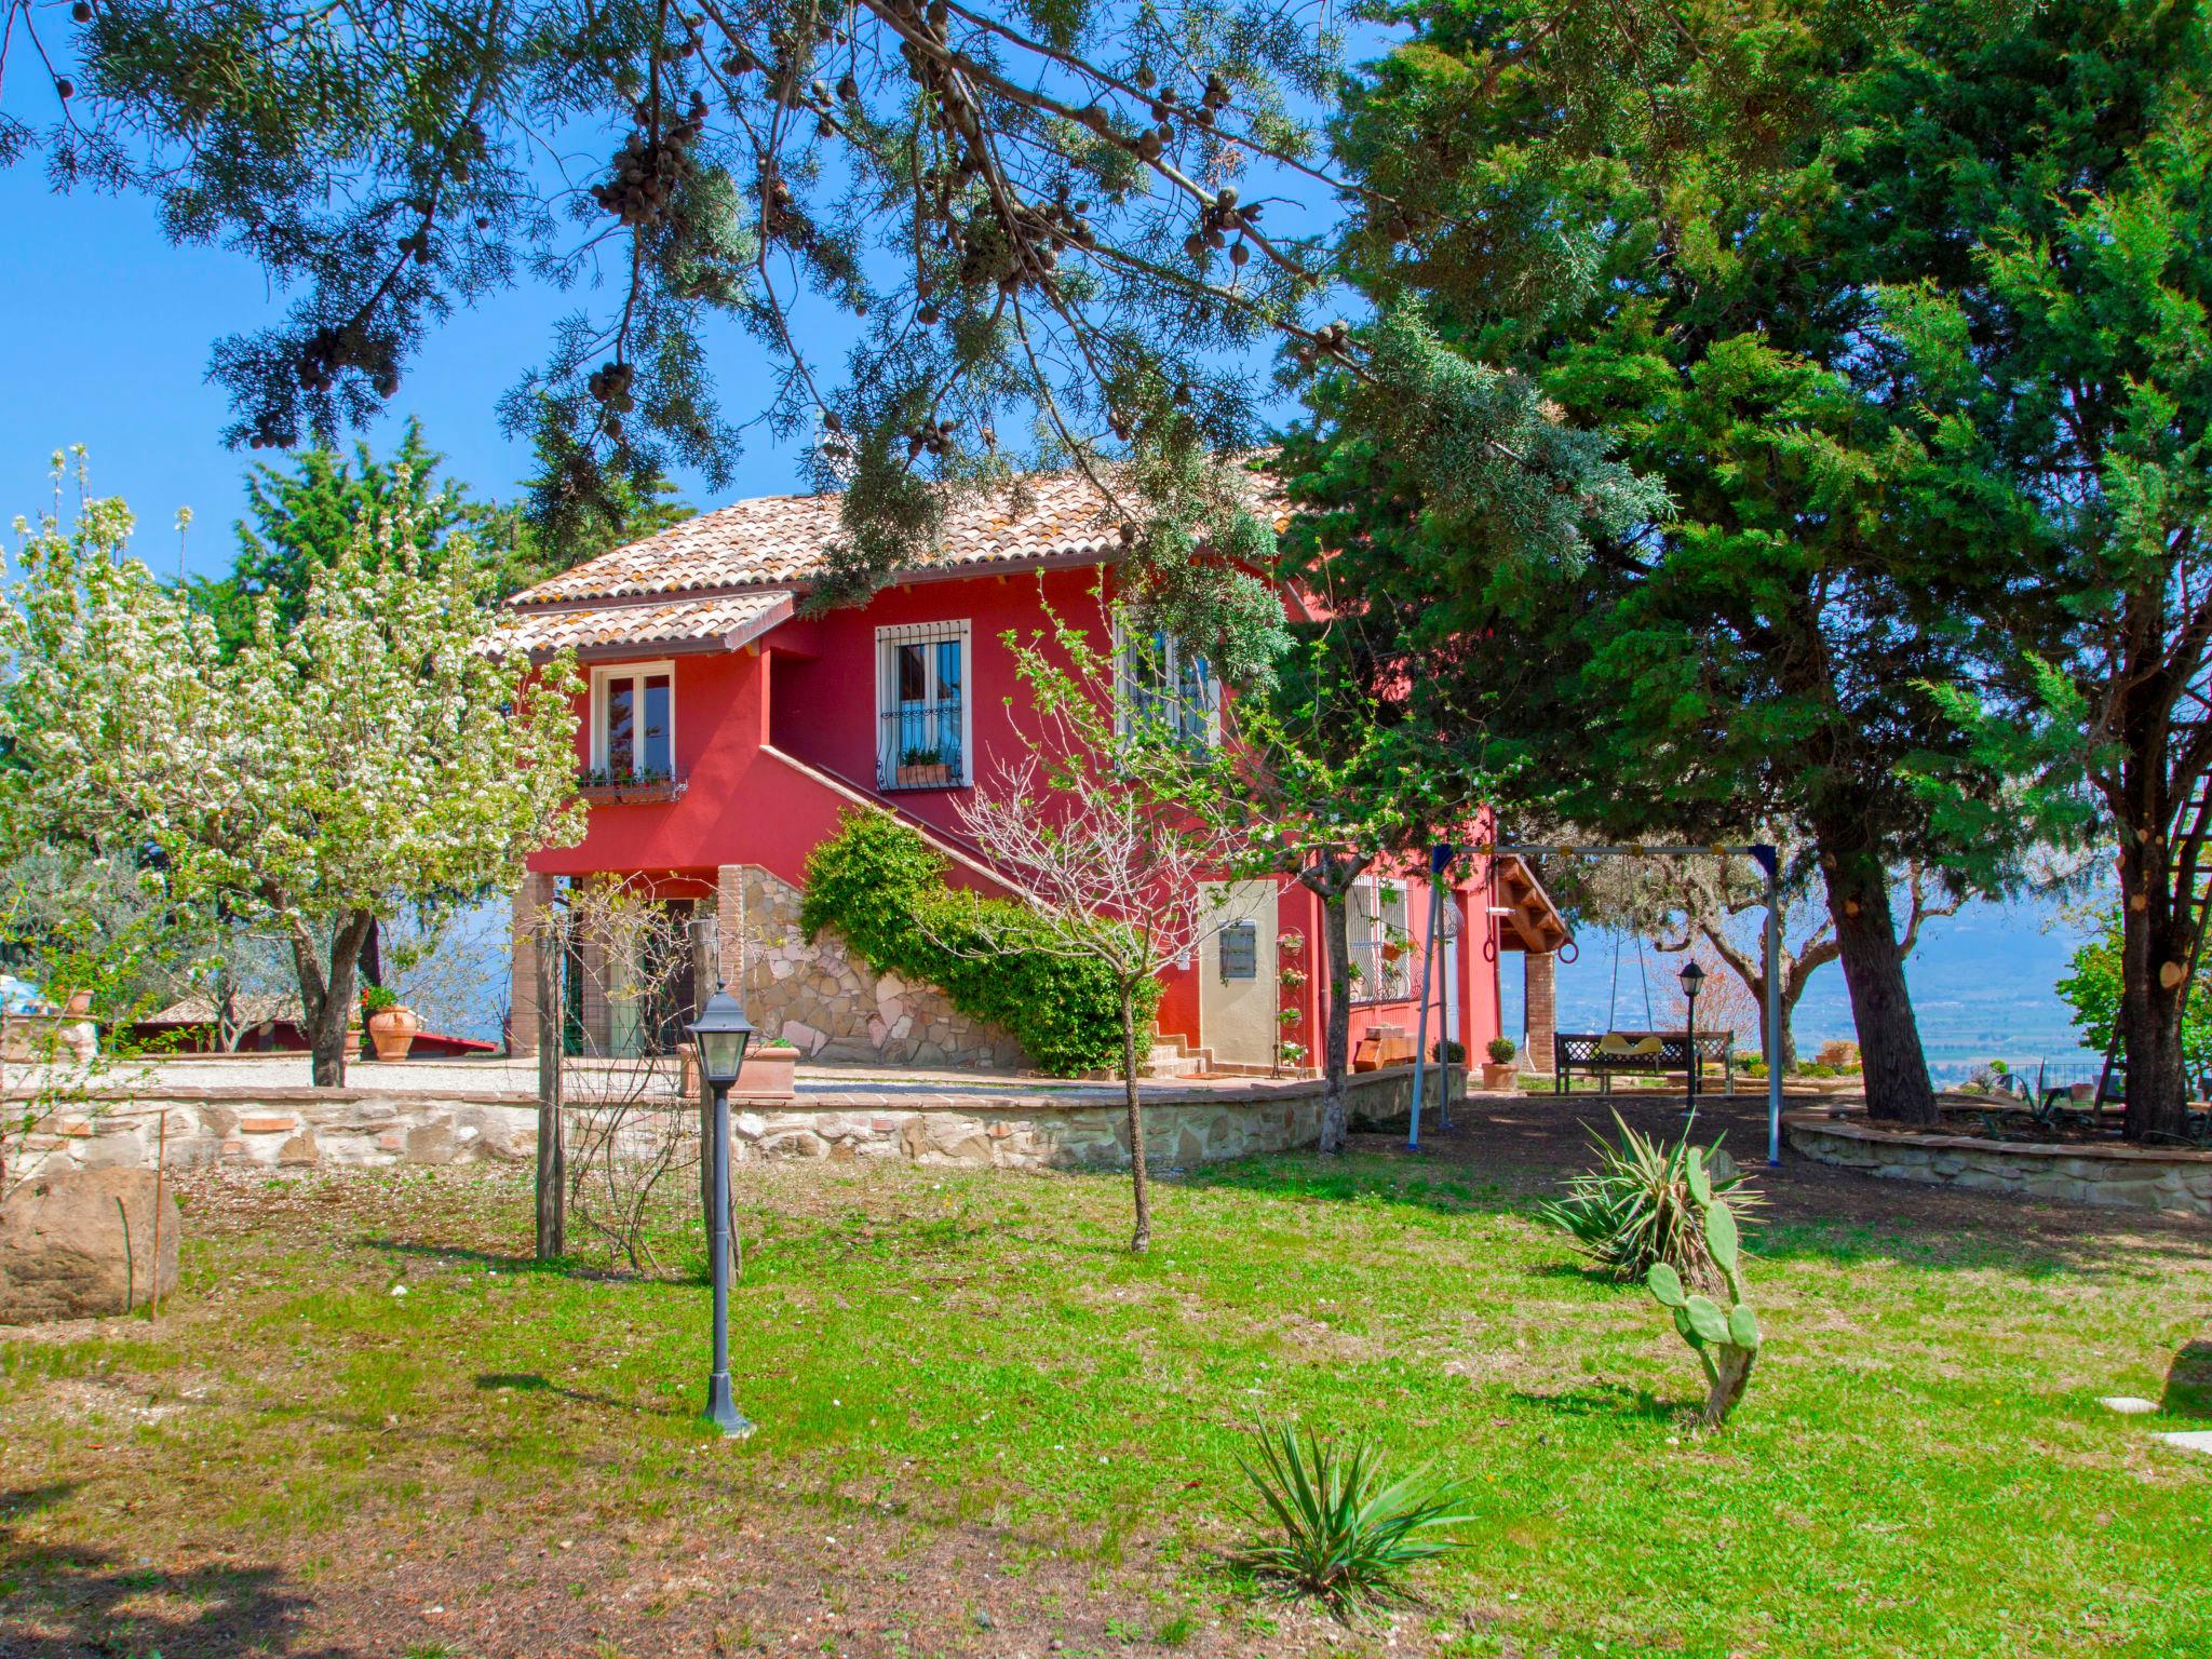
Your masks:
[{"label": "rough stone facing below the house's outdoor staircase", "polygon": [[787,880],[743,865],[737,918],[723,900],[723,960],[734,967],[732,942],[741,940],[743,978],[732,984],[757,1029],[816,1060],[1009,1071],[1029,1064],[1022,1044],[960,1013],[936,987],[876,973],[834,933],[807,945],[799,898]]}]

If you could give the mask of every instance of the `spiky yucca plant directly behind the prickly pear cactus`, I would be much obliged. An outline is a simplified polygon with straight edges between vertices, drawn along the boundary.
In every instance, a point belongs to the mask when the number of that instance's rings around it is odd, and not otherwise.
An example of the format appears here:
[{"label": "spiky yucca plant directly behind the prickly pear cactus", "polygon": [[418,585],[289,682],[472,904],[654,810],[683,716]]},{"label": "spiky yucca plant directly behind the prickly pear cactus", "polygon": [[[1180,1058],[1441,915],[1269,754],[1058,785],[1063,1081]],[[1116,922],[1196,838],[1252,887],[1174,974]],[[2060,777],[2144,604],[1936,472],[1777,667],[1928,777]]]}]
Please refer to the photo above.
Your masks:
[{"label": "spiky yucca plant directly behind the prickly pear cactus", "polygon": [[[1599,1135],[1597,1168],[1566,1183],[1566,1197],[1544,1203],[1537,1214],[1564,1228],[1575,1248],[1621,1281],[1644,1279],[1657,1263],[1681,1274],[1688,1285],[1710,1285],[1717,1267],[1705,1230],[1690,1199],[1690,1135],[1666,1146],[1639,1135],[1613,1113],[1619,1144]],[[1703,1152],[1712,1190],[1743,1217],[1763,1199],[1750,1177],[1714,1141]]]}]

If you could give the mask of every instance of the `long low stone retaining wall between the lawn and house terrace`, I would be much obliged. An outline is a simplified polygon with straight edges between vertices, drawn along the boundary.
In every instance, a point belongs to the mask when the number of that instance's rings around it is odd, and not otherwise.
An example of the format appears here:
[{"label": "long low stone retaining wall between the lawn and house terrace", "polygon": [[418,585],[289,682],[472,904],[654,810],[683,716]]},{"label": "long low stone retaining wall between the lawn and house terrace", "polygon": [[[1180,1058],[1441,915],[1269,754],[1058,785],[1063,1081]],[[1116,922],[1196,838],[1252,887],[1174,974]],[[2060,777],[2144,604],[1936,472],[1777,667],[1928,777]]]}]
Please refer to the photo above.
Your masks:
[{"label": "long low stone retaining wall between the lawn and house terrace", "polygon": [[[1402,1121],[1411,1075],[1400,1066],[1354,1077],[1354,1119]],[[1283,1152],[1321,1137],[1318,1082],[1146,1088],[1144,1106],[1146,1155],[1159,1168]],[[166,1157],[175,1168],[529,1164],[538,1148],[538,1102],[531,1095],[173,1086],[161,1093],[91,1093],[53,1110],[31,1137],[22,1172],[49,1164],[153,1164],[164,1113]],[[695,1121],[690,1113],[670,1110],[646,1115],[641,1126],[684,1128],[688,1121]],[[993,1168],[1128,1164],[1126,1110],[1104,1091],[732,1095],[730,1121],[741,1164],[863,1157]]]}]

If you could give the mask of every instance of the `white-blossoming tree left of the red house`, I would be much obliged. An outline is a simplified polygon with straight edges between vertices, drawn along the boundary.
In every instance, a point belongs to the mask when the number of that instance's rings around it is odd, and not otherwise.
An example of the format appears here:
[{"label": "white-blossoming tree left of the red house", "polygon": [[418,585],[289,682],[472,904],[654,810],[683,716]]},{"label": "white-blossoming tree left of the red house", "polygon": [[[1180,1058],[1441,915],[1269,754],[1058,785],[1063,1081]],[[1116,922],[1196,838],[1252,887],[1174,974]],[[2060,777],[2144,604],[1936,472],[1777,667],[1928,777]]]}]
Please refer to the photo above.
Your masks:
[{"label": "white-blossoming tree left of the red house", "polygon": [[15,522],[0,593],[0,825],[133,847],[190,902],[290,947],[314,1082],[345,1082],[361,940],[403,905],[513,885],[582,832],[573,664],[487,657],[467,546],[363,524],[296,626],[215,622],[126,557],[131,513]]}]

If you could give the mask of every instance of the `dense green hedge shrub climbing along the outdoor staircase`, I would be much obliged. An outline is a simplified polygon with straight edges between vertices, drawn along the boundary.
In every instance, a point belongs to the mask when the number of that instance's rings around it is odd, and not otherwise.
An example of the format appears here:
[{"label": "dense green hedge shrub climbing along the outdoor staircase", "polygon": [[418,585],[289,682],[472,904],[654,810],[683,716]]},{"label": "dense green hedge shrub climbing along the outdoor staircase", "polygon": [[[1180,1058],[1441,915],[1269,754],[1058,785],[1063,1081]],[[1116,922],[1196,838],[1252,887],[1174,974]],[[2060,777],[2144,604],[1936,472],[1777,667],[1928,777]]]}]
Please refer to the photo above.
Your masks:
[{"label": "dense green hedge shrub climbing along the outdoor staircase", "polygon": [[[971,1020],[1011,1031],[1055,1077],[1119,1068],[1121,1004],[1102,962],[1024,947],[1042,938],[1026,905],[945,885],[947,860],[883,812],[852,810],[807,854],[799,925],[838,933],[878,973],[933,984]],[[1104,927],[1104,922],[1102,922]],[[1137,1004],[1150,1046],[1159,984]]]}]

